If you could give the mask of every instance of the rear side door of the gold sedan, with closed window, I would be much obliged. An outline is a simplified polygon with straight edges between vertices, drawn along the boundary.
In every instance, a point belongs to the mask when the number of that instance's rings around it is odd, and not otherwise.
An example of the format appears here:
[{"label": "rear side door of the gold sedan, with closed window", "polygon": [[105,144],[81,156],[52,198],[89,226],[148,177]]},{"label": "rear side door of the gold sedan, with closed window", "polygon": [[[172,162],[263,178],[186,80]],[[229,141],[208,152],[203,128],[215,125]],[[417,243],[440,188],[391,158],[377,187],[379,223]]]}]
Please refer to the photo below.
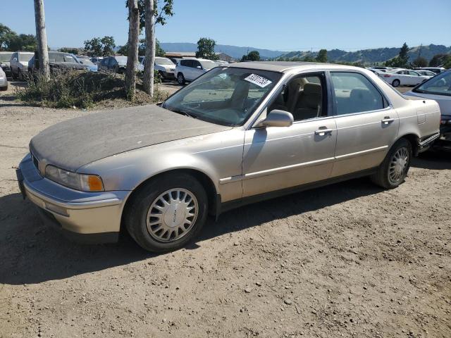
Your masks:
[{"label": "rear side door of the gold sedan, with closed window", "polygon": [[358,72],[330,72],[337,146],[332,176],[376,168],[397,138],[399,118],[381,89]]}]

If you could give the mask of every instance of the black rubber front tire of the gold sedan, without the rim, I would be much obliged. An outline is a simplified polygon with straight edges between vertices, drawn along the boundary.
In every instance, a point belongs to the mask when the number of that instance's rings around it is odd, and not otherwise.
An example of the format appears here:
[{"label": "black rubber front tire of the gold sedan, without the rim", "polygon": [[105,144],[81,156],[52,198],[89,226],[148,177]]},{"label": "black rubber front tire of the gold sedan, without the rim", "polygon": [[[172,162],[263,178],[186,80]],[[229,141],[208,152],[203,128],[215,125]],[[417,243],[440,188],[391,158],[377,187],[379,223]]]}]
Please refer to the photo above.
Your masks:
[{"label": "black rubber front tire of the gold sedan, without the rim", "polygon": [[[197,200],[197,218],[194,224],[183,237],[174,239],[172,242],[162,242],[149,232],[147,228],[147,215],[152,204],[170,189],[185,189],[195,196]],[[147,250],[156,253],[163,253],[182,248],[202,230],[208,215],[208,198],[204,187],[191,175],[168,174],[150,180],[132,196],[130,207],[125,211],[125,226],[130,236],[137,244]],[[172,217],[172,216],[171,216]],[[174,215],[174,219],[175,219]],[[152,217],[151,217],[152,218]],[[164,231],[164,230],[163,230]],[[168,235],[169,236],[169,235]]]}]

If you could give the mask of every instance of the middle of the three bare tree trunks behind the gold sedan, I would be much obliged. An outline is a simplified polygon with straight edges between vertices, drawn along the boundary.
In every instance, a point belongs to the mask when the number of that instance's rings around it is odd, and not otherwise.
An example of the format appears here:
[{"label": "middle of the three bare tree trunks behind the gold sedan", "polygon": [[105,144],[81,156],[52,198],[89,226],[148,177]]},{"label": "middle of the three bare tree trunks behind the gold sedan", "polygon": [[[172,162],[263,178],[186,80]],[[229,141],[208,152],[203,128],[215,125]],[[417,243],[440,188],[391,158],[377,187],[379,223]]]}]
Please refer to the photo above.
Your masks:
[{"label": "middle of the three bare tree trunks behind the gold sedan", "polygon": [[128,0],[128,58],[125,71],[125,93],[128,99],[135,96],[138,43],[140,35],[140,11],[137,0]]}]

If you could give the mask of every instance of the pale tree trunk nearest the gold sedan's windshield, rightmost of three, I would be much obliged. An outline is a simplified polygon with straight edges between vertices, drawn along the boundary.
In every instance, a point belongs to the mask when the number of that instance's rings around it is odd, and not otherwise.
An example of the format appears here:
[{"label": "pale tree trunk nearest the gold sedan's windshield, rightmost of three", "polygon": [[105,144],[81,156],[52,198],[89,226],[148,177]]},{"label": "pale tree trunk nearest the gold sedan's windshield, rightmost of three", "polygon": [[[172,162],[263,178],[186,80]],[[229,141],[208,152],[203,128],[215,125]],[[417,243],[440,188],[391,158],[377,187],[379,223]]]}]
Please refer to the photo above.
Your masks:
[{"label": "pale tree trunk nearest the gold sedan's windshield, rightmost of three", "polygon": [[146,8],[146,63],[144,64],[144,91],[154,97],[155,11],[154,0],[145,0]]}]

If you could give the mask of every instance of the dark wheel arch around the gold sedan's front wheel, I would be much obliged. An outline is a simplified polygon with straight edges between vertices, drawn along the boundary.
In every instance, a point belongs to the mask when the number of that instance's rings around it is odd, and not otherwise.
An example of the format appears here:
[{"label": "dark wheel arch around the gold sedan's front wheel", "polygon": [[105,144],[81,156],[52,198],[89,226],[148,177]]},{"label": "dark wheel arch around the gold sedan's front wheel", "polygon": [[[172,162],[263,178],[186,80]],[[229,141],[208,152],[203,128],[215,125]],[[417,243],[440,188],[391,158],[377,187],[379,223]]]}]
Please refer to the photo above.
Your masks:
[{"label": "dark wheel arch around the gold sedan's front wheel", "polygon": [[152,180],[158,180],[159,177],[162,177],[164,175],[177,175],[180,173],[191,175],[192,177],[194,177],[196,180],[198,180],[202,184],[202,186],[205,189],[206,195],[209,199],[209,202],[210,202],[209,203],[209,213],[211,215],[216,215],[218,203],[221,203],[221,196],[218,195],[216,186],[215,186],[213,180],[211,180],[211,177],[209,177],[209,175],[207,175],[206,173],[204,173],[200,170],[197,170],[197,169],[176,168],[176,169],[163,171],[161,173],[157,173],[156,175],[153,175],[151,177],[147,177],[146,180],[143,180],[142,182],[140,182],[140,184],[138,184],[137,187],[135,187],[135,189],[132,190],[132,192],[128,195],[127,199],[125,200],[125,204],[123,207],[123,211],[122,211],[122,215],[121,215],[121,231],[123,231],[123,229],[124,229],[124,226],[123,226],[124,217],[127,214],[128,210],[133,202],[134,196],[136,196],[136,194],[138,192],[140,192],[142,189],[144,189],[144,187]]}]

